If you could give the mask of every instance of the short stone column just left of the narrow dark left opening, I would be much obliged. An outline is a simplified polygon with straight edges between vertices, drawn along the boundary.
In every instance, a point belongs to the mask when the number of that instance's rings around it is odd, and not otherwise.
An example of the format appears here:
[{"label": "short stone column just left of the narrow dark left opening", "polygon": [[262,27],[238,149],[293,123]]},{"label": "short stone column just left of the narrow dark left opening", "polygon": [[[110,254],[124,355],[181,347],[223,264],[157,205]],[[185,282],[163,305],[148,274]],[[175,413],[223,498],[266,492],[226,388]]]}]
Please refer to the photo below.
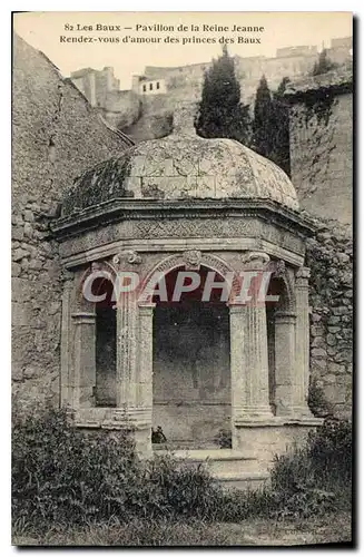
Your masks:
[{"label": "short stone column just left of the narrow dark left opening", "polygon": [[75,330],[73,374],[69,389],[72,408],[94,405],[96,384],[95,314],[78,312],[72,314]]}]

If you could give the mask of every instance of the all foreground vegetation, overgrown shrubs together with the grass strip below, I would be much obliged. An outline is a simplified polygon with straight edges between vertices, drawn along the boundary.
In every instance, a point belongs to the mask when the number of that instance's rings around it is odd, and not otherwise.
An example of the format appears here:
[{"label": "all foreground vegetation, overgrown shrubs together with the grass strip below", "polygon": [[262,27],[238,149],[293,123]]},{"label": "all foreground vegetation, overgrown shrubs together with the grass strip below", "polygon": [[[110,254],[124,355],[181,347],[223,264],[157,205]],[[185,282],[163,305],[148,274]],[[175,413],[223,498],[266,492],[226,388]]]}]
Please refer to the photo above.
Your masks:
[{"label": "all foreground vegetation, overgrown shrubs together with the grass strip below", "polygon": [[76,430],[65,411],[13,422],[13,544],[244,546],[350,541],[352,428],[325,420],[276,458],[258,490],[224,490],[204,466],[140,461],[125,432]]}]

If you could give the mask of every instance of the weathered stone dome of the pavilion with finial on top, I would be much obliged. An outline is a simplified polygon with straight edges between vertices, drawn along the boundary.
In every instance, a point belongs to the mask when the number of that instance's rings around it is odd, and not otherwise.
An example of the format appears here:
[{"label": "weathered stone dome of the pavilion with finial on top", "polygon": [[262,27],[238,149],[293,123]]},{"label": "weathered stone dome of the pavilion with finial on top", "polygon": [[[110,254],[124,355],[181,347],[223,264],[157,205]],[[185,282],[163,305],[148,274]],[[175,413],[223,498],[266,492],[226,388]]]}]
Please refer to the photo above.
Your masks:
[{"label": "weathered stone dome of the pavilion with finial on top", "polygon": [[174,116],[174,131],[142,141],[78,177],[63,215],[117,199],[270,199],[298,209],[295,188],[270,160],[233,139],[196,135],[194,108]]}]

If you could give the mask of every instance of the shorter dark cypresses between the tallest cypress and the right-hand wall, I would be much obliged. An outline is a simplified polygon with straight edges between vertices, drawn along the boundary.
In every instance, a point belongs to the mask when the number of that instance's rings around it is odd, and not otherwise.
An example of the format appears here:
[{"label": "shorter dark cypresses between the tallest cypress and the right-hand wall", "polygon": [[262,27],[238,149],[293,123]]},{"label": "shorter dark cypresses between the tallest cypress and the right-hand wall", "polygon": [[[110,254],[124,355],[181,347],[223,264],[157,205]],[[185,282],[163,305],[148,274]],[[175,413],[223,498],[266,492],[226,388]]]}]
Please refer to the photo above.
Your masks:
[{"label": "shorter dark cypresses between the tallest cypress and the right-hand wall", "polygon": [[276,92],[270,94],[265,76],[262,77],[255,97],[252,148],[269,158],[286,174],[289,164],[289,117],[284,102],[284,91],[289,79],[283,78]]}]

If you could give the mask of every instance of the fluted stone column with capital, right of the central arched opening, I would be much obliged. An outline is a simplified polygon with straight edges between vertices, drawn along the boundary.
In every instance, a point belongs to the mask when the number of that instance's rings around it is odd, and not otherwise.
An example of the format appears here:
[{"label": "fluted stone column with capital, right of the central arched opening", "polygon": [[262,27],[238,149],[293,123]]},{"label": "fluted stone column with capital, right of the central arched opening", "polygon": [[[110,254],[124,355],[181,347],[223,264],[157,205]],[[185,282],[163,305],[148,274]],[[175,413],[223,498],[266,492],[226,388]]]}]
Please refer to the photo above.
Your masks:
[{"label": "fluted stone column with capital, right of the central arched opening", "polygon": [[[246,271],[262,272],[266,254],[252,253]],[[258,299],[259,280],[253,282],[252,300],[230,306],[230,365],[233,421],[262,421],[272,417],[269,405],[268,346],[265,302]]]}]

